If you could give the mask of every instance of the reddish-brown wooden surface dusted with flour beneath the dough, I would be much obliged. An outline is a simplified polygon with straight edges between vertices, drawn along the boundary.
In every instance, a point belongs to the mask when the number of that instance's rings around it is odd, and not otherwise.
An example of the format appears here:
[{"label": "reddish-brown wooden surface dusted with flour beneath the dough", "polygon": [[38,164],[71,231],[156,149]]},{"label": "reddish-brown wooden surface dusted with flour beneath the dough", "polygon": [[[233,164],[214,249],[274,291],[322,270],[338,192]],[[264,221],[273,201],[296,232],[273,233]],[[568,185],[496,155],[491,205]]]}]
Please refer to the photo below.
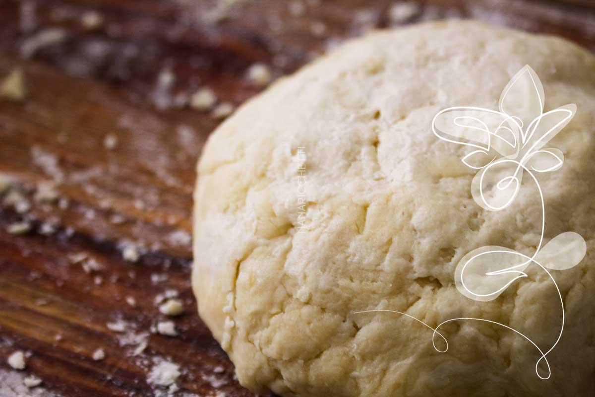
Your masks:
[{"label": "reddish-brown wooden surface dusted with flour beneath the dough", "polygon": [[[245,78],[255,62],[281,76],[347,37],[422,20],[480,18],[595,51],[589,0],[223,6],[231,3],[0,0],[0,79],[21,68],[28,90],[24,102],[0,100],[0,172],[32,204],[19,214],[0,199],[0,397],[167,395],[147,383],[159,360],[183,368],[175,395],[252,395],[234,380],[190,289],[195,162],[219,121],[180,105],[184,95],[210,87],[237,105],[258,92]],[[89,10],[104,18],[93,29],[81,22]],[[63,39],[28,54],[32,37],[48,29],[60,29]],[[165,70],[175,76],[172,86],[159,84]],[[118,139],[111,150],[108,134]],[[57,184],[57,202],[35,200],[44,181]],[[31,221],[29,233],[6,231],[23,219]],[[54,233],[45,233],[48,224]],[[122,258],[130,243],[142,253],[136,263]],[[72,263],[81,252],[101,268],[87,273]],[[179,290],[184,303],[173,319],[177,337],[151,333],[167,320],[154,304],[167,289]],[[113,321],[125,321],[125,332],[108,330]],[[145,339],[148,347],[133,356]],[[105,360],[92,360],[98,348]],[[29,355],[24,371],[5,363],[16,350]],[[42,387],[22,386],[30,374]]]}]

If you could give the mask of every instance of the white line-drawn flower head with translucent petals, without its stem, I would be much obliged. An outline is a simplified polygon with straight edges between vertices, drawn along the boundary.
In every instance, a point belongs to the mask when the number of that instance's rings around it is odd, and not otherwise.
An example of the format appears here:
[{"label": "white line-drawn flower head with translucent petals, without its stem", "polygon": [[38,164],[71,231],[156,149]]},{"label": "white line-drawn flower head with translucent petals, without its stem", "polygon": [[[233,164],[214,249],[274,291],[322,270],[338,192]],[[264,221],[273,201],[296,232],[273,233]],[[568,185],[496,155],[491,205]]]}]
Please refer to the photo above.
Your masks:
[{"label": "white line-drawn flower head with translucent petals, without its stem", "polygon": [[544,113],[544,99],[541,81],[525,65],[502,91],[499,111],[451,107],[434,117],[437,137],[475,148],[461,161],[480,170],[471,183],[472,193],[486,210],[503,210],[512,203],[524,168],[545,173],[562,167],[559,149],[542,148],[569,123],[577,107],[568,104]]}]

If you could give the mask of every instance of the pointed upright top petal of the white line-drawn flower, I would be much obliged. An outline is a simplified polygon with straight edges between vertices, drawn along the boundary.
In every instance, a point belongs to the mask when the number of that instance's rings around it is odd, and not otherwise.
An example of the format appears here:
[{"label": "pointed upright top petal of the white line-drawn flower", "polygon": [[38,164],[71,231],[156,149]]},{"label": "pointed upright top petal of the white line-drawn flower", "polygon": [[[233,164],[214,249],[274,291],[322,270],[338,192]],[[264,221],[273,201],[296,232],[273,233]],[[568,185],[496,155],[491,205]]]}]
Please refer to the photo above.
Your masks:
[{"label": "pointed upright top petal of the white line-drawn flower", "polygon": [[537,73],[529,65],[525,65],[502,90],[499,109],[500,112],[515,117],[519,127],[523,128],[541,115],[545,98]]}]

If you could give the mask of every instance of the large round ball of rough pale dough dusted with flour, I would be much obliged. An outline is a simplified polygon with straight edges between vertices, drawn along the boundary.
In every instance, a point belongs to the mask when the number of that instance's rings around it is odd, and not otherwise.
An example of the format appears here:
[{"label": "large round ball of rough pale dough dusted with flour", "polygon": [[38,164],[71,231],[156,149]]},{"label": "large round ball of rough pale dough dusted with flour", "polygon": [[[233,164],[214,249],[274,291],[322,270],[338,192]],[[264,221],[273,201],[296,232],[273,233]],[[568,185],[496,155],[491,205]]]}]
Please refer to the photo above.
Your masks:
[{"label": "large round ball of rough pale dough dusted with flour", "polygon": [[[540,174],[546,239],[580,233],[587,256],[553,271],[566,306],[562,340],[535,373],[536,349],[560,330],[560,302],[536,267],[499,298],[461,295],[453,276],[472,249],[533,254],[536,186],[488,212],[471,197],[464,146],[437,139],[436,112],[497,110],[525,64],[551,110],[577,104],[548,146],[563,167]],[[595,395],[595,57],[565,40],[472,21],[377,32],[346,43],[241,107],[208,140],[195,190],[193,287],[201,317],[242,385],[282,396]],[[305,228],[299,231],[300,161]],[[533,250],[533,251],[532,251]]]}]

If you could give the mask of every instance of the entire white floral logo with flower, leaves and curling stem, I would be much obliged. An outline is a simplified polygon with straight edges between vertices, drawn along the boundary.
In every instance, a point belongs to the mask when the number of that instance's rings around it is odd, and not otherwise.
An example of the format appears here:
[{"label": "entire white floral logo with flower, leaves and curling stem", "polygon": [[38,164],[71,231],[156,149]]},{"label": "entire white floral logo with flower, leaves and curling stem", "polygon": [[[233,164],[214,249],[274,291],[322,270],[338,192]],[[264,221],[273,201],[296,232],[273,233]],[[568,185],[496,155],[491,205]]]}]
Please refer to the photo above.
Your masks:
[{"label": "entire white floral logo with flower, leaves and curling stem", "polygon": [[[524,272],[530,264],[536,264],[552,280],[558,291],[562,310],[562,325],[558,339],[543,351],[530,337],[502,323],[483,318],[451,318],[436,328],[409,314],[392,310],[366,312],[395,312],[413,318],[434,331],[432,343],[439,352],[446,352],[448,342],[438,332],[443,324],[451,321],[475,320],[497,324],[524,337],[539,352],[535,370],[541,379],[549,379],[551,370],[546,356],[556,347],[564,329],[564,304],[562,295],[552,274],[547,270],[565,270],[583,260],[587,245],[583,237],[574,232],[565,232],[553,237],[543,245],[545,206],[543,192],[534,173],[549,173],[562,167],[564,156],[556,148],[545,148],[556,134],[574,117],[577,107],[564,105],[543,112],[545,95],[535,71],[526,65],[518,71],[502,91],[499,110],[478,107],[451,107],[436,114],[432,122],[434,134],[446,142],[470,146],[474,150],[462,158],[468,167],[478,170],[471,182],[472,196],[480,207],[488,211],[501,211],[515,200],[521,189],[523,174],[536,184],[541,200],[541,236],[536,251],[531,257],[501,246],[483,246],[466,254],[455,269],[455,284],[459,292],[475,301],[492,301],[513,282],[527,277]],[[543,245],[543,246],[542,246]],[[446,346],[436,346],[440,336]],[[547,367],[540,374],[541,361]]]}]

